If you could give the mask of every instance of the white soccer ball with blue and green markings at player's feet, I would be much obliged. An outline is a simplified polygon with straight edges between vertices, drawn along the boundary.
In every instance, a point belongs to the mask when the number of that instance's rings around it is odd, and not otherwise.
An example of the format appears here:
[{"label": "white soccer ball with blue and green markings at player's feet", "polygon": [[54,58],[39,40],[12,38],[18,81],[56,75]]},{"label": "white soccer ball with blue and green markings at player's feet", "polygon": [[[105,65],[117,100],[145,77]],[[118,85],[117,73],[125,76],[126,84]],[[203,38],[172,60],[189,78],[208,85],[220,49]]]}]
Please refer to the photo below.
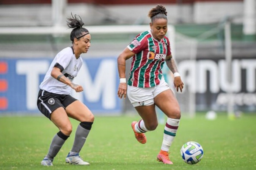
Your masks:
[{"label": "white soccer ball with blue and green markings at player's feet", "polygon": [[187,164],[198,163],[204,155],[203,148],[197,142],[187,142],[181,147],[181,157]]}]

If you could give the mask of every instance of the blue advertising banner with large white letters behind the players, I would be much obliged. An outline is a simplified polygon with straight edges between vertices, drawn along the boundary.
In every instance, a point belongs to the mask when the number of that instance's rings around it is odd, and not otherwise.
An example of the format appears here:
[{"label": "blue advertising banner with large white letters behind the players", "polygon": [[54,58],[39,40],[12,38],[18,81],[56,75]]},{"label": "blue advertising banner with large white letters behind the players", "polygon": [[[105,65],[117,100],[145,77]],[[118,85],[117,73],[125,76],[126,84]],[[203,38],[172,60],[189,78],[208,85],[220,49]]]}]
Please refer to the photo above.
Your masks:
[{"label": "blue advertising banner with large white letters behind the players", "polygon": [[[39,84],[51,62],[52,59],[0,59],[0,114],[39,112],[36,105]],[[72,96],[93,113],[120,113],[116,58],[90,58],[83,62],[73,82],[82,85],[84,91],[73,91]]]}]

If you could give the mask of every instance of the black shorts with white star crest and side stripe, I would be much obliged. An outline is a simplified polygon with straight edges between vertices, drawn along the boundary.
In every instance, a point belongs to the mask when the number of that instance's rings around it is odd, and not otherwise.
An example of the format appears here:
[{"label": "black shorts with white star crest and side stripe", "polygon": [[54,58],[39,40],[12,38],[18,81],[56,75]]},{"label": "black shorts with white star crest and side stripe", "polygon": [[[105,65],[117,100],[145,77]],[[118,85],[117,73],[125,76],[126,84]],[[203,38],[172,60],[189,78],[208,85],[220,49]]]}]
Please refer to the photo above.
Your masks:
[{"label": "black shorts with white star crest and side stripe", "polygon": [[74,97],[65,94],[50,93],[45,90],[39,90],[37,107],[46,117],[50,119],[50,114],[57,108],[63,107],[64,109],[74,102]]}]

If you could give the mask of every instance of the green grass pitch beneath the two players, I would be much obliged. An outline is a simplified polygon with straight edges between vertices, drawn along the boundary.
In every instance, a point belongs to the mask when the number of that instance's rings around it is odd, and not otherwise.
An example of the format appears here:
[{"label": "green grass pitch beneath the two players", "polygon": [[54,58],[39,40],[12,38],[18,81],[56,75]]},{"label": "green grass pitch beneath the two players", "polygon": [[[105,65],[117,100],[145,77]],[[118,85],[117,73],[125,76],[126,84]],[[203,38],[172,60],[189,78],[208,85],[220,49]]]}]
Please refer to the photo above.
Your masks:
[{"label": "green grass pitch beneath the two players", "polygon": [[[72,147],[77,121],[72,121],[73,132],[53,161],[53,167],[40,163],[46,155],[57,128],[46,117],[0,117],[1,170],[255,170],[256,169],[256,114],[243,114],[228,120],[225,114],[214,121],[197,114],[195,119],[182,117],[177,136],[171,146],[170,158],[174,165],[156,161],[162,144],[164,125],[146,133],[148,141],[140,144],[134,138],[130,123],[137,116],[96,116],[91,133],[80,156],[90,166],[65,163]],[[202,145],[204,156],[198,164],[182,161],[180,148],[187,141]]]}]

